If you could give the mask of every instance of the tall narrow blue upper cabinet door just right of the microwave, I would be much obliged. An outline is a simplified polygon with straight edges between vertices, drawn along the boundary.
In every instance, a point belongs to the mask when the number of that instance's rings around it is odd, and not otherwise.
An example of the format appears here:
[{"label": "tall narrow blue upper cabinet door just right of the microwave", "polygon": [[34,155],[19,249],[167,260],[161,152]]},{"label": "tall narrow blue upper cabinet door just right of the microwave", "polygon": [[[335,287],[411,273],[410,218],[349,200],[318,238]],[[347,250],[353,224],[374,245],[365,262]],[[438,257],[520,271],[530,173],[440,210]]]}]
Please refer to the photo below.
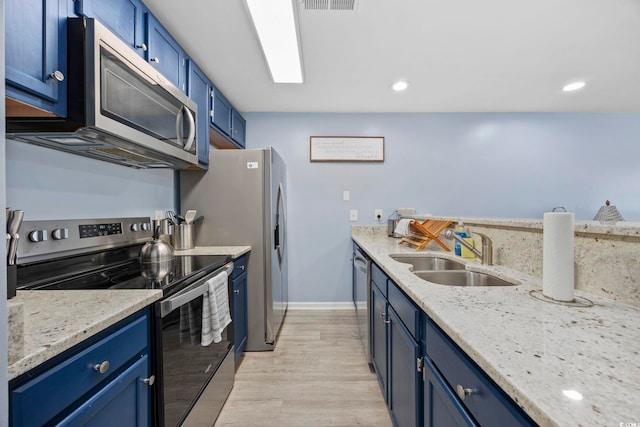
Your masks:
[{"label": "tall narrow blue upper cabinet door just right of the microwave", "polygon": [[198,104],[198,164],[206,168],[209,165],[209,79],[193,62],[189,61],[189,98]]}]

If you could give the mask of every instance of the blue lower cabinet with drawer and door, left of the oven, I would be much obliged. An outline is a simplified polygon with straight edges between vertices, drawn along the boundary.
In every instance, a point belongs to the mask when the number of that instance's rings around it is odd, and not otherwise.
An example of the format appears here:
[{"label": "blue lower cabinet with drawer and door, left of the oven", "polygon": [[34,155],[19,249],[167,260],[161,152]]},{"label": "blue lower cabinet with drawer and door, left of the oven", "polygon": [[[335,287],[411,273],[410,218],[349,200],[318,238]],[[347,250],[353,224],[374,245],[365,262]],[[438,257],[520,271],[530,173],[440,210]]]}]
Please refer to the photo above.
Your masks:
[{"label": "blue lower cabinet with drawer and door, left of the oven", "polygon": [[149,325],[142,310],[11,380],[10,425],[150,425]]}]

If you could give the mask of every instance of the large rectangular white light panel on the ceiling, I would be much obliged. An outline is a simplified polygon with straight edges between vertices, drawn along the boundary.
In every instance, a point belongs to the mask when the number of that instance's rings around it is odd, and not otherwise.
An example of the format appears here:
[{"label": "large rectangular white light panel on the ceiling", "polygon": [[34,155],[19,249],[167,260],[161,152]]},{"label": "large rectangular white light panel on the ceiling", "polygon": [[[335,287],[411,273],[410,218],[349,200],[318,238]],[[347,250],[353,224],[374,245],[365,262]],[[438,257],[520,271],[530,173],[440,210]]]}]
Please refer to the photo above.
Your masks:
[{"label": "large rectangular white light panel on the ceiling", "polygon": [[274,83],[302,83],[302,60],[292,0],[246,0]]}]

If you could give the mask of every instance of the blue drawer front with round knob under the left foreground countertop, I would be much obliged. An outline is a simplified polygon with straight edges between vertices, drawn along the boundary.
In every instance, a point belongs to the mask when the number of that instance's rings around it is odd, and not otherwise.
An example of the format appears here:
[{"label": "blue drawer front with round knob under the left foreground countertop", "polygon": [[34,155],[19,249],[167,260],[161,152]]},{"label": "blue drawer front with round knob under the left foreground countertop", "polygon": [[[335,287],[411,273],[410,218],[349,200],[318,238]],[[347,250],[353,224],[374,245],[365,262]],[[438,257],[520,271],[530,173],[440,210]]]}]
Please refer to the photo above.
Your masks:
[{"label": "blue drawer front with round knob under the left foreground countertop", "polygon": [[[12,425],[43,425],[90,389],[106,383],[111,374],[146,352],[148,330],[147,316],[140,317],[12,390]],[[94,367],[105,361],[109,367],[101,374]]]}]

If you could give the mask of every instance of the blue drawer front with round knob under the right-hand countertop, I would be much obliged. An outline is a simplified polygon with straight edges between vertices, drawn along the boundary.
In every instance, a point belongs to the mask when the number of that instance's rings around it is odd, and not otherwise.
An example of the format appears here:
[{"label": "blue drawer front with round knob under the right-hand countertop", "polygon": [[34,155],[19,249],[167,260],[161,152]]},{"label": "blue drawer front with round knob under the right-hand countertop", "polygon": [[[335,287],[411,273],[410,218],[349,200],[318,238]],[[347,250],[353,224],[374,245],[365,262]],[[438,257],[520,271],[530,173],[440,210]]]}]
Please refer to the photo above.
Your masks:
[{"label": "blue drawer front with round knob under the right-hand countertop", "polygon": [[458,401],[483,426],[529,426],[535,423],[431,321],[427,321],[427,355],[454,393],[458,385],[472,394]]}]

